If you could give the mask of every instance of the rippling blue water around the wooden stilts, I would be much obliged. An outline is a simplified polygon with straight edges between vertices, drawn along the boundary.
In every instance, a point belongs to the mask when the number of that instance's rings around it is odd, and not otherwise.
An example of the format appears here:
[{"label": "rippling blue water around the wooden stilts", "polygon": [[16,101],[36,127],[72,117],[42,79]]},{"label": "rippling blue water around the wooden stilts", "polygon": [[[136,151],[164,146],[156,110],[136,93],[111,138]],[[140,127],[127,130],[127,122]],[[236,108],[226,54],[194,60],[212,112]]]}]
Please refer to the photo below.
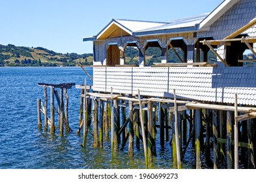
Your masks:
[{"label": "rippling blue water around the wooden stilts", "polygon": [[[92,68],[87,70],[92,74]],[[43,100],[44,96],[38,83],[80,85],[85,77],[87,84],[92,84],[81,68],[0,68],[0,168],[145,168],[142,145],[141,151],[135,149],[134,157],[128,157],[126,144],[112,159],[110,142],[104,140],[103,149],[92,148],[89,134],[87,148],[81,148],[83,136],[76,134],[80,90],[75,86],[68,90],[69,122],[73,131],[61,136],[58,130],[51,135],[49,129],[38,129],[36,99]],[[165,150],[158,147],[157,153],[150,168],[171,168],[169,142]],[[192,168],[189,164],[192,156],[186,157],[188,168]]]}]

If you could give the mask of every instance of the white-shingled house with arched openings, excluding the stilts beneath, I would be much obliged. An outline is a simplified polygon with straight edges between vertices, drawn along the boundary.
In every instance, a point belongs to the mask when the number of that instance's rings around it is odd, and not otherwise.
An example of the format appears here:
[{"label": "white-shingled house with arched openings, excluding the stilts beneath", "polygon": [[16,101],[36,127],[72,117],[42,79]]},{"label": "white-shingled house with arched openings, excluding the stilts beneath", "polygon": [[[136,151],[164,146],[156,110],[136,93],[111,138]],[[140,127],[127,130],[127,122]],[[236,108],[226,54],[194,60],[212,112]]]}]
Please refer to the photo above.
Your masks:
[{"label": "white-shingled house with arched openings, excluding the stilts beneath", "polygon": [[[93,88],[98,92],[256,105],[256,1],[225,0],[210,14],[169,22],[112,19],[93,41]],[[138,50],[137,64],[126,49]],[[147,64],[158,47],[160,62]],[[178,58],[173,63],[170,50]],[[179,50],[179,51],[177,51]],[[213,62],[209,53],[216,57]]]}]

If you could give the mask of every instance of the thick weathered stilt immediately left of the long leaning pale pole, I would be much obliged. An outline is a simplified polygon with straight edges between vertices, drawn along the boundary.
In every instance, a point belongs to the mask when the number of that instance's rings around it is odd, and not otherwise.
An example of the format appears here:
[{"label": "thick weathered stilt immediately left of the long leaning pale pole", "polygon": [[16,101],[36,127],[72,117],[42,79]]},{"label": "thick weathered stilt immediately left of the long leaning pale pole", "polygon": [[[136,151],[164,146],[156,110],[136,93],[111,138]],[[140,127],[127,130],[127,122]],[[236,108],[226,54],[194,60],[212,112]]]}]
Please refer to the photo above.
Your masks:
[{"label": "thick weathered stilt immediately left of the long leaning pale pole", "polygon": [[134,155],[134,116],[133,116],[133,105],[132,101],[129,101],[129,148],[128,154],[129,156]]}]

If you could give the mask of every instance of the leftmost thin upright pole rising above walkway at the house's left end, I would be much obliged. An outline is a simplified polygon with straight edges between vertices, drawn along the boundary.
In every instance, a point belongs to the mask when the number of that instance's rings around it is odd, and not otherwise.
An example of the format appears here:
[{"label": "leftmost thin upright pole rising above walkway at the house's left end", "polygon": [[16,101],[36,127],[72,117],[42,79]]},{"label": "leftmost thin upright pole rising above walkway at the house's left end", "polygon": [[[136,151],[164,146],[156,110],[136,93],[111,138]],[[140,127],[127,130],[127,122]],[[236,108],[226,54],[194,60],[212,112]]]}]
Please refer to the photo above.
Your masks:
[{"label": "leftmost thin upright pole rising above walkway at the house's left end", "polygon": [[[85,79],[85,88],[83,89],[83,148],[86,146],[87,141],[87,131],[88,131],[88,111],[87,111],[87,90],[86,90],[86,79]],[[80,108],[81,109],[81,108]]]}]

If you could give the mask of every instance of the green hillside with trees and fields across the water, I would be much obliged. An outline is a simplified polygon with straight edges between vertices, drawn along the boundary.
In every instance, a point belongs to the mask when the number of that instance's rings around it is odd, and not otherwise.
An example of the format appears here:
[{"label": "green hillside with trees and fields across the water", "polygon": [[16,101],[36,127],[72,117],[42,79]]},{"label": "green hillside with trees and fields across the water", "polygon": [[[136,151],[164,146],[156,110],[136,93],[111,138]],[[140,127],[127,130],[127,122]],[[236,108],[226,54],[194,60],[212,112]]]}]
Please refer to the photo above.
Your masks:
[{"label": "green hillside with trees and fields across the water", "polygon": [[0,44],[0,66],[78,66],[91,65],[92,54],[55,53],[43,47]]}]

